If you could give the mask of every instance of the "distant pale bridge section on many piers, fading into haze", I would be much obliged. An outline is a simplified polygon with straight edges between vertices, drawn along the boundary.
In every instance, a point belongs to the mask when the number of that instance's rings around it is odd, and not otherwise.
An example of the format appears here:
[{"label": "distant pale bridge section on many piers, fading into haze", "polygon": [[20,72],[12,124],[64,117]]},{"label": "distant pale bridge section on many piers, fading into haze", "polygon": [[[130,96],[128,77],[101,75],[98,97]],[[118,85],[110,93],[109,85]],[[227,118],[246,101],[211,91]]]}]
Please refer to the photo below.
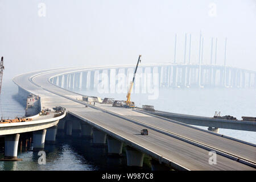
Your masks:
[{"label": "distant pale bridge section on many piers, fading into haze", "polygon": [[[65,73],[52,77],[53,84],[65,89],[94,89],[104,79],[108,78],[108,91],[115,86],[118,77],[132,77],[134,65],[87,69]],[[147,79],[146,77],[151,77]],[[138,85],[147,84],[167,88],[218,87],[218,88],[256,88],[256,71],[233,68],[225,65],[208,64],[151,64],[140,65],[135,78]],[[136,84],[135,84],[136,85]]]}]

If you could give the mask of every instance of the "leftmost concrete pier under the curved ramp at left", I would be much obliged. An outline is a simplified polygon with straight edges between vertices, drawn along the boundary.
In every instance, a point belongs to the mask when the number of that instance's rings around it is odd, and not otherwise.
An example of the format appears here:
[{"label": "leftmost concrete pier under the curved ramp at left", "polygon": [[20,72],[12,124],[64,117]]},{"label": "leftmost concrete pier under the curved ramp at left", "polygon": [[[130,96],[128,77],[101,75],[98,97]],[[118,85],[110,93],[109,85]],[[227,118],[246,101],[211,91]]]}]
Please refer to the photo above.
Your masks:
[{"label": "leftmost concrete pier under the curved ramp at left", "polygon": [[7,160],[18,160],[19,134],[5,136],[5,158]]}]

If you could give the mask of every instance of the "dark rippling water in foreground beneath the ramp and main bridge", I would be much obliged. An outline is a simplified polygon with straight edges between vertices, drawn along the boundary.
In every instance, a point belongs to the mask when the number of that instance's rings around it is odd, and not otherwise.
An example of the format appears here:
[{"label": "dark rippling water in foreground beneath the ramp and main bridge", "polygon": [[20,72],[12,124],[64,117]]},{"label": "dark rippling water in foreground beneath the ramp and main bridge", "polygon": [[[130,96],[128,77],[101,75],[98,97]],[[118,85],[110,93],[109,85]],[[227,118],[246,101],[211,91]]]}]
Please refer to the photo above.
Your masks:
[{"label": "dark rippling water in foreground beneath the ramp and main bridge", "polygon": [[[18,158],[23,161],[18,162],[0,162],[0,170],[120,170],[130,169],[127,167],[125,147],[122,155],[109,155],[108,146],[94,145],[92,139],[71,139],[57,138],[55,144],[45,144],[46,164],[39,164],[38,151],[18,152]],[[3,157],[3,152],[0,157]],[[147,158],[142,168],[150,170],[150,164]]]}]

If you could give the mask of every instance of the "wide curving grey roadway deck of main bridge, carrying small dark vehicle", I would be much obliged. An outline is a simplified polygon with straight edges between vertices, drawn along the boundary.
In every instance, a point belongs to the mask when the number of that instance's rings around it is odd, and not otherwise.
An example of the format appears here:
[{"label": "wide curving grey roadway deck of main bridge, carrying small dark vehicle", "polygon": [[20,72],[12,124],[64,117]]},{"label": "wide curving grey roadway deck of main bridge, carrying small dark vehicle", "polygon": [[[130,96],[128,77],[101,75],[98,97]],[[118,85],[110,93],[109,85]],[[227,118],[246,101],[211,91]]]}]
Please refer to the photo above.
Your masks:
[{"label": "wide curving grey roadway deck of main bridge, carrying small dark vehicle", "polygon": [[[178,122],[168,122],[131,109],[101,104],[89,105],[75,99],[79,94],[49,82],[54,76],[90,69],[100,68],[38,71],[16,76],[13,81],[19,86],[20,93],[26,90],[40,96],[43,107],[63,106],[69,114],[93,126],[95,130],[100,131],[101,135],[105,137],[108,135],[121,143],[126,143],[133,150],[137,150],[137,152],[126,152],[127,164],[130,163],[131,166],[133,166],[134,158],[143,160],[142,154],[148,154],[159,163],[165,163],[175,169],[255,170],[254,144],[180,125]],[[140,130],[144,128],[148,129],[149,135],[140,135]],[[93,137],[97,137],[96,133],[94,131]],[[209,151],[216,151],[217,164],[209,164]]]}]

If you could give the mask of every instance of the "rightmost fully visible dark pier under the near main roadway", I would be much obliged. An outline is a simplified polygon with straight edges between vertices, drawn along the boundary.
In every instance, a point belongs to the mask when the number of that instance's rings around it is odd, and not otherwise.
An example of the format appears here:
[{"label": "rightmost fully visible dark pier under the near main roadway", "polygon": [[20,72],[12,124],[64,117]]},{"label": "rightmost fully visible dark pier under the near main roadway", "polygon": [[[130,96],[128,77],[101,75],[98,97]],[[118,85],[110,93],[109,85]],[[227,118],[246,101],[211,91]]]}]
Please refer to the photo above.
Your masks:
[{"label": "rightmost fully visible dark pier under the near main roadway", "polygon": [[127,146],[126,148],[127,166],[143,166],[144,153]]}]

